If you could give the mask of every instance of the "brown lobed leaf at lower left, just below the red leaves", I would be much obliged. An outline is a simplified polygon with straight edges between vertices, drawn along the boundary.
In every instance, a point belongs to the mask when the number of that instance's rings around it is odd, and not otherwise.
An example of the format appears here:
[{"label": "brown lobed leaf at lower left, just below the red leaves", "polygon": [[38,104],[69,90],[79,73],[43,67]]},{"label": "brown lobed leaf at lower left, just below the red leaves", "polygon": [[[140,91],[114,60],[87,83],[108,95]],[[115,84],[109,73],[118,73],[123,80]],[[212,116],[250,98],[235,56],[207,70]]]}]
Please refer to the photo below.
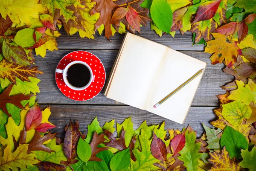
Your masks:
[{"label": "brown lobed leaf at lower left, just below the red leaves", "polygon": [[39,150],[46,151],[48,153],[52,152],[52,150],[49,147],[44,146],[43,143],[48,141],[49,139],[54,139],[56,134],[57,133],[49,132],[45,136],[41,137],[41,133],[36,130],[32,141],[29,143],[27,153],[29,153],[30,151],[39,151]]}]

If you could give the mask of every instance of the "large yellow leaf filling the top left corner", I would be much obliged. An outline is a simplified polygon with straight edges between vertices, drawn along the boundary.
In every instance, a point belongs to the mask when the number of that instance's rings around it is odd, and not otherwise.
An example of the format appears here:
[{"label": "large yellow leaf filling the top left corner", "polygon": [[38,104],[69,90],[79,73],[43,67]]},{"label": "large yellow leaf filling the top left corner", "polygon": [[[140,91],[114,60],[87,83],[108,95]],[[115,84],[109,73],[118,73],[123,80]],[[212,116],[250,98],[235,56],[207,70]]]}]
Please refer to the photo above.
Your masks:
[{"label": "large yellow leaf filling the top left corner", "polygon": [[37,3],[38,0],[1,0],[0,13],[6,19],[9,15],[13,23],[30,25],[30,18],[39,18],[45,8]]}]

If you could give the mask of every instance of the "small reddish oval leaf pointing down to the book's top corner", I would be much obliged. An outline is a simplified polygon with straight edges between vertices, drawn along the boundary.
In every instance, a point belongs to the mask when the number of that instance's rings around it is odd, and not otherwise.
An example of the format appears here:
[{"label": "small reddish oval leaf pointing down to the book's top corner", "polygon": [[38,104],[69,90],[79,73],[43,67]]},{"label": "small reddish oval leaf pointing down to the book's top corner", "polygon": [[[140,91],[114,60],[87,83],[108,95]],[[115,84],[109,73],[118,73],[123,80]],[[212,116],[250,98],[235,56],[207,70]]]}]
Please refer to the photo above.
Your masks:
[{"label": "small reddish oval leaf pointing down to the book's top corner", "polygon": [[128,6],[129,10],[125,15],[127,22],[133,27],[135,30],[140,32],[140,17],[139,14],[133,9],[131,6]]}]

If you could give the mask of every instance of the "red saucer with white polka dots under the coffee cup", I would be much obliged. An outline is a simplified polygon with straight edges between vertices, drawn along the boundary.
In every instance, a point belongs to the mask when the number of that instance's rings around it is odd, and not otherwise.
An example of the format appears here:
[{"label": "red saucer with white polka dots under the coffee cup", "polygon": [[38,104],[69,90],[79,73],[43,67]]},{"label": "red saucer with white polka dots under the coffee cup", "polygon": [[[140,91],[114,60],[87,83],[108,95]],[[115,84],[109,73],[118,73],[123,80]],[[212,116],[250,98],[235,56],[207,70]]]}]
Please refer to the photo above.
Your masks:
[{"label": "red saucer with white polka dots under the coffee cup", "polygon": [[79,50],[65,55],[58,63],[56,69],[64,70],[64,68],[73,61],[82,61],[86,63],[93,72],[93,81],[84,90],[73,90],[65,84],[63,74],[55,72],[55,81],[58,89],[72,100],[86,101],[92,99],[99,94],[105,84],[105,68],[99,58],[95,55],[87,51]]}]

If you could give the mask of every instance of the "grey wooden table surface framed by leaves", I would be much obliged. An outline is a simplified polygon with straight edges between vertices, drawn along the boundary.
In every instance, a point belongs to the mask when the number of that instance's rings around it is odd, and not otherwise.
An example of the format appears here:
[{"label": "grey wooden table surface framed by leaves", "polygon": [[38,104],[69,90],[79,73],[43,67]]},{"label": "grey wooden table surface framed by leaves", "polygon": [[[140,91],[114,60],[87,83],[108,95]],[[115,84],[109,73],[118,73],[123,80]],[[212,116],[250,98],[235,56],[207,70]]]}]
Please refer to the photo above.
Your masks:
[{"label": "grey wooden table surface framed by leaves", "polygon": [[[39,66],[39,69],[44,72],[44,74],[38,75],[38,78],[41,79],[38,84],[41,91],[37,95],[38,103],[41,104],[41,107],[51,105],[52,114],[49,121],[57,125],[57,128],[53,131],[60,133],[59,136],[61,138],[64,138],[64,126],[69,123],[69,119],[73,122],[78,120],[81,132],[86,133],[87,124],[90,124],[96,116],[101,126],[112,119],[122,123],[125,118],[132,116],[134,129],[137,129],[144,120],[147,120],[148,125],[159,124],[165,120],[166,129],[182,129],[187,125],[191,125],[197,131],[198,136],[201,136],[204,132],[201,123],[212,127],[209,122],[216,119],[212,111],[219,106],[216,95],[225,93],[220,86],[233,79],[232,75],[227,75],[221,70],[224,68],[223,64],[212,66],[209,59],[210,54],[203,52],[204,45],[192,46],[192,34],[190,32],[186,32],[184,35],[176,32],[175,38],[172,38],[171,35],[163,35],[160,38],[154,31],[151,31],[150,27],[142,27],[141,34],[138,35],[207,62],[206,71],[185,123],[180,125],[153,113],[118,103],[106,98],[102,92],[88,101],[73,101],[64,96],[55,83],[55,68],[61,58],[75,50],[92,52],[100,58],[105,66],[108,79],[124,35],[116,33],[114,37],[111,37],[111,41],[108,41],[103,35],[100,36],[99,33],[96,33],[95,40],[92,40],[80,38],[78,34],[69,36],[62,29],[60,32],[61,36],[57,38],[59,50],[54,52],[47,51],[45,58],[36,57],[35,65]],[[181,68],[181,70],[186,70],[186,68]],[[172,110],[170,110],[171,112]]]}]

